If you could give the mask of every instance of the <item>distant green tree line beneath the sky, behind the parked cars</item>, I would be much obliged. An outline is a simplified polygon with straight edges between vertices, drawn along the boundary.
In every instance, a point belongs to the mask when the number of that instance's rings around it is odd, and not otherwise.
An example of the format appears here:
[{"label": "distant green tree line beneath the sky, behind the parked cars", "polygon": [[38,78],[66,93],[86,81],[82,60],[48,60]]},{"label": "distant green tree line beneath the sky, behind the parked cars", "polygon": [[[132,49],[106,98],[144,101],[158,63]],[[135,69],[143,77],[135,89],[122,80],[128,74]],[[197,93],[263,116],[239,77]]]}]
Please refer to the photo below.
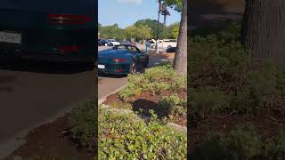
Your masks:
[{"label": "distant green tree line beneath the sky, behind the parked cars", "polygon": [[[159,39],[177,39],[179,25],[180,23],[176,22],[167,26],[166,30],[163,30],[164,26],[159,22]],[[130,40],[133,37],[136,41],[141,41],[150,38],[156,39],[158,20],[137,20],[133,25],[126,28],[118,28],[117,23],[111,26],[102,26],[102,24],[98,23],[98,28],[100,37],[105,39],[115,38],[118,41],[122,41],[125,39]]]}]

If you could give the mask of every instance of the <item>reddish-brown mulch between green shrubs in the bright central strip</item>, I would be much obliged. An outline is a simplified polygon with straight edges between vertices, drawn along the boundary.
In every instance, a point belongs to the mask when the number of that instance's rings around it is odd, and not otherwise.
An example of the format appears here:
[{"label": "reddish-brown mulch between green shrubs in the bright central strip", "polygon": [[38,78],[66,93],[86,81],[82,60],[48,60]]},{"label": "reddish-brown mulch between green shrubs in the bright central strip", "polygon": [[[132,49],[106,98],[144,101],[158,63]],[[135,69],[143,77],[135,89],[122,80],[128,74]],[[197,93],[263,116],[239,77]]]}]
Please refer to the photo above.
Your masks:
[{"label": "reddish-brown mulch between green shrubs in the bright central strip", "polygon": [[[118,92],[111,94],[107,97],[107,99],[103,102],[103,104],[112,106],[113,104],[121,104],[121,105],[131,105],[134,111],[140,112],[140,108],[142,108],[142,114],[144,116],[150,116],[149,109],[153,109],[155,113],[159,117],[167,116],[167,113],[162,108],[159,108],[159,100],[164,96],[170,96],[172,94],[177,94],[180,98],[186,98],[187,92],[185,90],[179,92],[162,92],[159,95],[152,95],[151,92],[141,92],[137,95],[133,102],[126,103],[118,98]],[[175,124],[180,124],[183,126],[187,126],[187,117],[186,116],[174,116],[172,120]]]}]

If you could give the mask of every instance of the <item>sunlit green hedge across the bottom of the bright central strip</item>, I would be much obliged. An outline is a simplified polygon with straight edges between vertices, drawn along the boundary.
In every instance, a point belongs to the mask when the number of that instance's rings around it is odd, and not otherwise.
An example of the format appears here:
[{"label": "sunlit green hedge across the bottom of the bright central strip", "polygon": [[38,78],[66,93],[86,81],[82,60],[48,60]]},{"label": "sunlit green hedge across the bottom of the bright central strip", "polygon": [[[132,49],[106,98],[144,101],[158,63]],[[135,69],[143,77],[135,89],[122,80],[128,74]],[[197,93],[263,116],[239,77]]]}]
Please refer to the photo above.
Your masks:
[{"label": "sunlit green hedge across the bottom of the bright central strip", "polygon": [[99,111],[99,159],[186,159],[186,137],[134,113]]}]

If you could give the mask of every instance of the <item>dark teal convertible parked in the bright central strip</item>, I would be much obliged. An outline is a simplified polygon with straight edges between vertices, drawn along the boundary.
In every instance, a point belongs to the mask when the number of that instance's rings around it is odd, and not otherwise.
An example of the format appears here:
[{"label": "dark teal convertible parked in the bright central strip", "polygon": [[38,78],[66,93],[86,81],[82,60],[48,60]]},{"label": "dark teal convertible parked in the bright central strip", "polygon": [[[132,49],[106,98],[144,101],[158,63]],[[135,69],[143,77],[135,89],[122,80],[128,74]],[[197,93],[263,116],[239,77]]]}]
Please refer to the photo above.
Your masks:
[{"label": "dark teal convertible parked in the bright central strip", "polygon": [[121,44],[98,54],[98,72],[112,75],[134,74],[139,68],[146,68],[149,55],[136,46]]}]

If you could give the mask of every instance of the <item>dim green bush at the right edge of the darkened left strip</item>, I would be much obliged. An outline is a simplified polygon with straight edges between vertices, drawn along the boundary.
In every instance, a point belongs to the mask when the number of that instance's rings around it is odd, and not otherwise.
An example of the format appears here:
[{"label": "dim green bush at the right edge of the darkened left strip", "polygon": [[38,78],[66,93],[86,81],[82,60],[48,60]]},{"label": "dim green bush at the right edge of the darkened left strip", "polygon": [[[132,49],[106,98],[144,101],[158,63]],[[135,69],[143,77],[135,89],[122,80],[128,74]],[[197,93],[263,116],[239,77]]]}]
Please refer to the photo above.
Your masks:
[{"label": "dim green bush at the right edge of the darkened left strip", "polygon": [[86,148],[94,148],[97,127],[97,101],[86,101],[81,107],[74,108],[69,116],[69,127],[73,138]]}]

